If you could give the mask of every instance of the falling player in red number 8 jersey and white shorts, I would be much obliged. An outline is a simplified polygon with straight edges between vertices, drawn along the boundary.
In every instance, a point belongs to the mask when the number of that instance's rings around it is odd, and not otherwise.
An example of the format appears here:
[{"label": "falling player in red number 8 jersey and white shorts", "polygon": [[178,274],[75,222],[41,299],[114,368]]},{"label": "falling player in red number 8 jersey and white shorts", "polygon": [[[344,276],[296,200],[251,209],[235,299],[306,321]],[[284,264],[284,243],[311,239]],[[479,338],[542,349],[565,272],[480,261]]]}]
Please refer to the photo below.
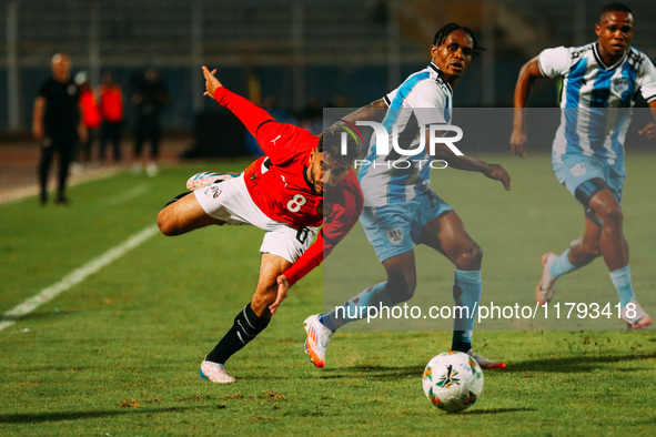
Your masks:
[{"label": "falling player in red number 8 jersey and white shorts", "polygon": [[[265,231],[255,293],[201,364],[201,377],[232,383],[225,360],[269,325],[287,289],[351,231],[362,212],[363,199],[357,177],[350,170],[359,153],[356,138],[347,139],[349,153],[343,155],[337,130],[316,136],[277,123],[264,110],[226,90],[215,72],[203,67],[204,95],[231,110],[266,155],[238,177],[179,196],[159,213],[158,225],[165,235],[211,224],[250,224]],[[330,204],[324,204],[324,190],[330,191]]]}]

